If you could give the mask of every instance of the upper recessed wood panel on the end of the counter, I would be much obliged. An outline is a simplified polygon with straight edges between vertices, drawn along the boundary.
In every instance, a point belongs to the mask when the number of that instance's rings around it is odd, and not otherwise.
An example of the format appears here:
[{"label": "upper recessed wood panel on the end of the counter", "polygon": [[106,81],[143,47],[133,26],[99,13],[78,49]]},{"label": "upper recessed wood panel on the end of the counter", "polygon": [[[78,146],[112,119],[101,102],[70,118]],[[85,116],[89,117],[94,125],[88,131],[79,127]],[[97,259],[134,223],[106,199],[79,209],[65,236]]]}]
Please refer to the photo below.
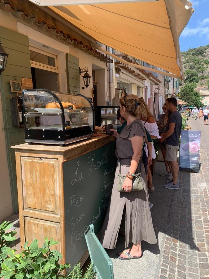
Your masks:
[{"label": "upper recessed wood panel on the end of the counter", "polygon": [[58,160],[21,157],[23,209],[59,215]]}]

